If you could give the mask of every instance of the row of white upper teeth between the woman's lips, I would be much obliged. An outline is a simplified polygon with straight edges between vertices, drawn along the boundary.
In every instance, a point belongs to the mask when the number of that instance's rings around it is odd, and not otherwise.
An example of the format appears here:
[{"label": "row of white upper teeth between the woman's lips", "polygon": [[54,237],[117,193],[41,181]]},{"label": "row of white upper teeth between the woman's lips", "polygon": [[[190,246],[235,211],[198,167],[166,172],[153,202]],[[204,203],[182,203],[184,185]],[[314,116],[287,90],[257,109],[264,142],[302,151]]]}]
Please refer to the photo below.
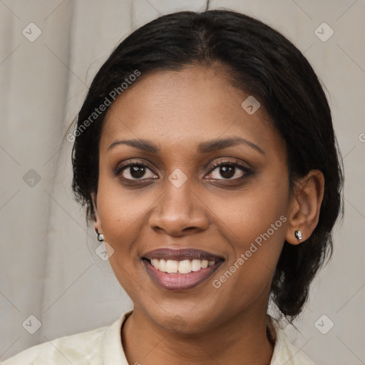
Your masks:
[{"label": "row of white upper teeth between the woman's lips", "polygon": [[189,272],[196,272],[200,269],[206,269],[208,266],[213,266],[215,261],[208,261],[207,259],[183,259],[176,261],[174,259],[151,259],[151,264],[155,269],[162,272],[189,274]]}]

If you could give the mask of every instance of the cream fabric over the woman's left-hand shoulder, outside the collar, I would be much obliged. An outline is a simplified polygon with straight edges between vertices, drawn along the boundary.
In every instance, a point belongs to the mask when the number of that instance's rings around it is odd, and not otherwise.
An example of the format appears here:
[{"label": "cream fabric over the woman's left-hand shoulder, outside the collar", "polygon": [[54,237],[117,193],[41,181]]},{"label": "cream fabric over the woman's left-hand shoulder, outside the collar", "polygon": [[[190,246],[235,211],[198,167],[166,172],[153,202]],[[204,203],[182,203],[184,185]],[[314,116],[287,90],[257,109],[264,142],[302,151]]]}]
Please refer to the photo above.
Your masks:
[{"label": "cream fabric over the woman's left-hand shoulder, outside the collar", "polygon": [[0,365],[100,365],[103,364],[103,340],[111,326],[63,336],[32,346],[7,359]]}]

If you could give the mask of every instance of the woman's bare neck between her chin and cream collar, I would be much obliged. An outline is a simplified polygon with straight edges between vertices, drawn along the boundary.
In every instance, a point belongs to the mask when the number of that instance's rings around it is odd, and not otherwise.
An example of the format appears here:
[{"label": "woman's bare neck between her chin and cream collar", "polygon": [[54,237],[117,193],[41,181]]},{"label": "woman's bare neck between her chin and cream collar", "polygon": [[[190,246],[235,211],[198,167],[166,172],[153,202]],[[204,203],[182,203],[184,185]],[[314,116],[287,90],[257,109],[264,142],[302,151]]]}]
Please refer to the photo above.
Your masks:
[{"label": "woman's bare neck between her chin and cream collar", "polygon": [[122,331],[129,364],[269,365],[273,346],[267,338],[266,310],[240,313],[230,321],[199,334],[168,331],[135,307]]}]

